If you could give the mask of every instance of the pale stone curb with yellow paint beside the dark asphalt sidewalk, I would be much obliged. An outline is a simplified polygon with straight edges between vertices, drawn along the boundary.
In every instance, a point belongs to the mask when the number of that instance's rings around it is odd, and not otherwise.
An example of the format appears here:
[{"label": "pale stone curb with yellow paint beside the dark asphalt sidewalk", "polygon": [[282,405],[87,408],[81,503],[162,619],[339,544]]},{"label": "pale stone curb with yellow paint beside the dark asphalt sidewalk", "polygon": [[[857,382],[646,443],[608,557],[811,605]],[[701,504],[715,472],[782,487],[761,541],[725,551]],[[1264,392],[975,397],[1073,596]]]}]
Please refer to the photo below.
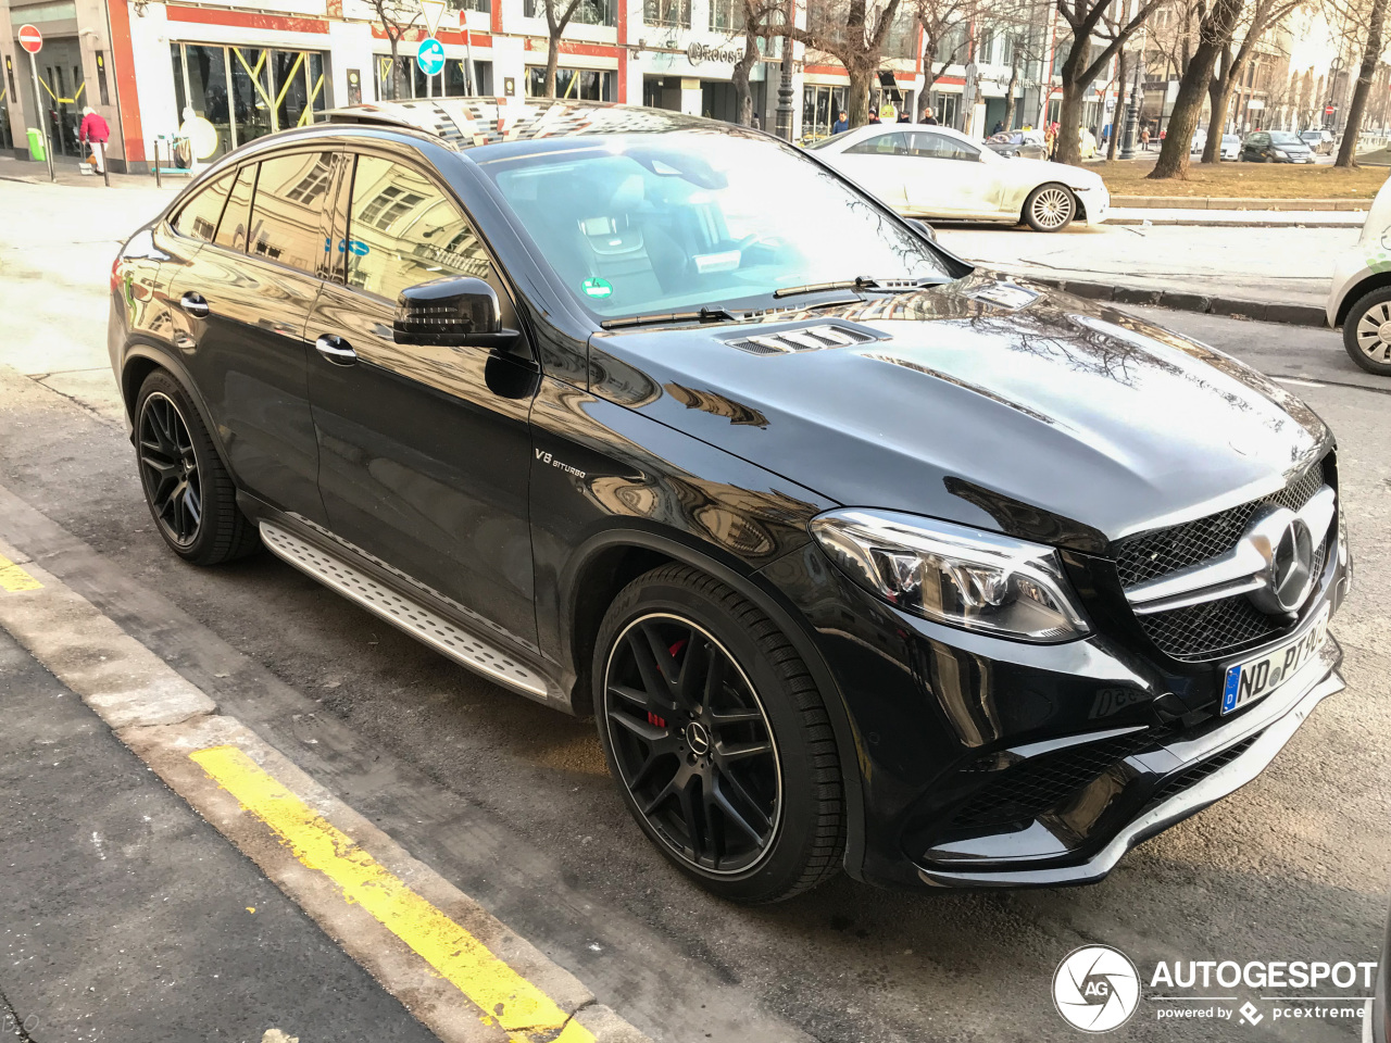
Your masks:
[{"label": "pale stone curb with yellow paint beside the dark asphalt sidewalk", "polygon": [[[335,797],[28,555],[0,542],[0,626],[441,1043],[650,1043],[573,973]],[[199,754],[231,751],[298,804],[351,890]],[[384,915],[362,893],[387,893]],[[399,908],[405,916],[394,916]],[[413,915],[410,915],[413,914]],[[394,926],[394,919],[408,921]],[[406,929],[409,928],[409,930]]]}]

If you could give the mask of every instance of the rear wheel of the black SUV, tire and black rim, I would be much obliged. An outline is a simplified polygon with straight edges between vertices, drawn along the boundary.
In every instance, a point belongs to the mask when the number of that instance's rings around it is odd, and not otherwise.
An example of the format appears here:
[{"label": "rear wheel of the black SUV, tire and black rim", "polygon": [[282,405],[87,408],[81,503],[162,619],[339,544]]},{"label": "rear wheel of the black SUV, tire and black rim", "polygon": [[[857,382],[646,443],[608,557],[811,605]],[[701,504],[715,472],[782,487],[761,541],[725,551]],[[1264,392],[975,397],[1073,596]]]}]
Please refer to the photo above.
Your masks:
[{"label": "rear wheel of the black SUV, tire and black rim", "polygon": [[135,399],[135,460],[154,527],[185,562],[220,565],[260,547],[203,417],[164,370]]}]

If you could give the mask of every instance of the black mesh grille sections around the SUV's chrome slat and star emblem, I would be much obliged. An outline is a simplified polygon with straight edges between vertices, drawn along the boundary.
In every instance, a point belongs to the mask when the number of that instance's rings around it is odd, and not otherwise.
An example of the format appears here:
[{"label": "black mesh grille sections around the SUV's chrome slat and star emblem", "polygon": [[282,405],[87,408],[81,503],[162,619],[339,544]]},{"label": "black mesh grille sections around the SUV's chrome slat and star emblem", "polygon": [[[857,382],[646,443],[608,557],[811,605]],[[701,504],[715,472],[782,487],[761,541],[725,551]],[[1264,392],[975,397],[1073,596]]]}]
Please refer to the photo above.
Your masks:
[{"label": "black mesh grille sections around the SUV's chrome slat and star emblem", "polygon": [[[1117,548],[1117,572],[1123,585],[1134,588],[1230,553],[1257,512],[1270,506],[1301,510],[1323,485],[1334,484],[1330,471],[1331,463],[1316,463],[1269,496],[1123,541]],[[1314,547],[1314,577],[1323,574],[1328,548],[1335,538],[1337,522],[1328,526]],[[1142,612],[1136,608],[1135,619],[1149,640],[1166,655],[1184,662],[1235,655],[1276,640],[1295,626],[1288,616],[1260,611],[1246,594],[1219,597],[1161,612]]]}]

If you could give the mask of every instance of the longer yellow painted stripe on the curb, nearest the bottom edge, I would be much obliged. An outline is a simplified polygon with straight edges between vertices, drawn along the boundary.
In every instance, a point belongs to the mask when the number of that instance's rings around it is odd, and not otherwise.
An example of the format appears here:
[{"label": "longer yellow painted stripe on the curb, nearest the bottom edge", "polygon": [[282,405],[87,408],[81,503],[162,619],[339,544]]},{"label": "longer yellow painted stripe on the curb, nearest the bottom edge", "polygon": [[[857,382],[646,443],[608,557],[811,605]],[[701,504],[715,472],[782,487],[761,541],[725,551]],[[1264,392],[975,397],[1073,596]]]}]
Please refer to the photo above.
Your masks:
[{"label": "longer yellow painted stripe on the curb, nearest the bottom edge", "polygon": [[[3,574],[3,573],[0,573]],[[512,1043],[594,1043],[594,1036],[487,946],[412,891],[398,876],[316,815],[235,745],[189,754],[209,777],[280,837],[307,868],[324,873],[344,900],[362,905],[481,1010]]]}]

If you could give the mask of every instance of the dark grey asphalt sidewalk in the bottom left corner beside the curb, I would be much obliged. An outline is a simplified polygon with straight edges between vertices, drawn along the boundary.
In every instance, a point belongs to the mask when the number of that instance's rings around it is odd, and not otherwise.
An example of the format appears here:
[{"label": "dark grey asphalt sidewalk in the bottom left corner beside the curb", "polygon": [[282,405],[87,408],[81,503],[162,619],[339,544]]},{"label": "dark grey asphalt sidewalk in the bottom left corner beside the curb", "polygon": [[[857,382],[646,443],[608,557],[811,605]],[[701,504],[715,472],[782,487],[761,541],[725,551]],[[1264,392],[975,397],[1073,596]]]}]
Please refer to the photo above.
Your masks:
[{"label": "dark grey asphalt sidewalk in the bottom left corner beside the curb", "polygon": [[435,1040],[3,630],[0,679],[17,1039]]}]

